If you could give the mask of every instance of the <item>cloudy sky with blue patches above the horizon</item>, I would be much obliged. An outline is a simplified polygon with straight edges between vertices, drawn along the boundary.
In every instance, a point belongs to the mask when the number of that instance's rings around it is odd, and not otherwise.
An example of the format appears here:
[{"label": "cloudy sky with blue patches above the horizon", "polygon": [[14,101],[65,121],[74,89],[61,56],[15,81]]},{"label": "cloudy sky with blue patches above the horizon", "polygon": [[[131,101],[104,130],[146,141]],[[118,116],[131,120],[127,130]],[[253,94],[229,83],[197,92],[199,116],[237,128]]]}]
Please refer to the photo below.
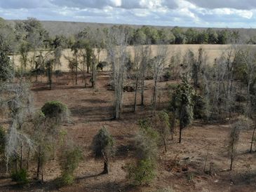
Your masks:
[{"label": "cloudy sky with blue patches above the horizon", "polygon": [[0,17],[256,28],[256,0],[0,0]]}]

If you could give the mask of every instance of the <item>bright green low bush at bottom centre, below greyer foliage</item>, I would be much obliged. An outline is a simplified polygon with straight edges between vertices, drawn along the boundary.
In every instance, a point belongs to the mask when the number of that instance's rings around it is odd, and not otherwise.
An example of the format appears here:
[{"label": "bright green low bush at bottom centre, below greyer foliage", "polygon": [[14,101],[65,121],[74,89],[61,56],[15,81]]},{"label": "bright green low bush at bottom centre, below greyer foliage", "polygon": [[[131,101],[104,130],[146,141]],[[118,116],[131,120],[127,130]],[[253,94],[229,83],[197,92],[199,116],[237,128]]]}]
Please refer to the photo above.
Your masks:
[{"label": "bright green low bush at bottom centre, below greyer foliage", "polygon": [[156,177],[156,164],[150,159],[139,160],[136,165],[128,165],[128,179],[135,185],[149,184]]}]

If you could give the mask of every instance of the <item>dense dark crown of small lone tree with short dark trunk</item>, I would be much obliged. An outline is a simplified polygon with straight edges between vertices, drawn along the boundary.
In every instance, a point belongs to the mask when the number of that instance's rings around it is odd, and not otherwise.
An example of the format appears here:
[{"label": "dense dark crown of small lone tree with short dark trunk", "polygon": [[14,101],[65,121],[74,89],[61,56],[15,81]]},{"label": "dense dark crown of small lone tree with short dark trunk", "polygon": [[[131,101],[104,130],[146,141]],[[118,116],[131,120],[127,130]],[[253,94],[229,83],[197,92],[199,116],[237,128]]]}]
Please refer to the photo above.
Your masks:
[{"label": "dense dark crown of small lone tree with short dark trunk", "polygon": [[92,149],[95,158],[110,157],[114,154],[114,138],[107,128],[101,128],[93,137]]}]

